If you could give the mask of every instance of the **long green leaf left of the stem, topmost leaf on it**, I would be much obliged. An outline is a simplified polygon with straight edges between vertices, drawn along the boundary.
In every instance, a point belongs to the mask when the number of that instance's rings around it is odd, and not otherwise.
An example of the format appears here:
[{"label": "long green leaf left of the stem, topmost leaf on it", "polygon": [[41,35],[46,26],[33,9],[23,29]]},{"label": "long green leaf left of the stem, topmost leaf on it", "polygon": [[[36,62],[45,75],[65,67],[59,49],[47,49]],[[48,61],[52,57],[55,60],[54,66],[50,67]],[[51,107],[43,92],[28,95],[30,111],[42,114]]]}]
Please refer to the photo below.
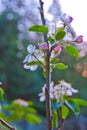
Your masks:
[{"label": "long green leaf left of the stem, topmost leaf on it", "polygon": [[29,31],[48,33],[48,28],[44,25],[34,25],[29,28]]}]

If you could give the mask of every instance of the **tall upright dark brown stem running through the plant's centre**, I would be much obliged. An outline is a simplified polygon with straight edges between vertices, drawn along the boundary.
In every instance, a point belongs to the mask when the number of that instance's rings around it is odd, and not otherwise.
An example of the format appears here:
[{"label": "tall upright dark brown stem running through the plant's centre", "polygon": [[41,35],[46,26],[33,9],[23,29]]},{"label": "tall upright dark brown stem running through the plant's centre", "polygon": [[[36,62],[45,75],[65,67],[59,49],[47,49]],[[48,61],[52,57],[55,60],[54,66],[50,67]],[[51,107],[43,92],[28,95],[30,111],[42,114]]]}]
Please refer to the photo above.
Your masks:
[{"label": "tall upright dark brown stem running through the plant's centre", "polygon": [[[41,15],[41,20],[42,24],[46,25],[45,23],[45,18],[44,18],[44,10],[43,10],[43,2],[42,0],[39,0],[40,3],[40,15]],[[44,41],[48,45],[48,49],[46,51],[46,89],[45,89],[45,95],[46,95],[46,117],[47,117],[47,125],[48,125],[48,130],[53,130],[52,127],[52,116],[51,116],[51,101],[50,101],[50,82],[51,82],[51,73],[50,73],[50,50],[49,50],[49,43],[47,39],[47,34],[44,34]]]}]

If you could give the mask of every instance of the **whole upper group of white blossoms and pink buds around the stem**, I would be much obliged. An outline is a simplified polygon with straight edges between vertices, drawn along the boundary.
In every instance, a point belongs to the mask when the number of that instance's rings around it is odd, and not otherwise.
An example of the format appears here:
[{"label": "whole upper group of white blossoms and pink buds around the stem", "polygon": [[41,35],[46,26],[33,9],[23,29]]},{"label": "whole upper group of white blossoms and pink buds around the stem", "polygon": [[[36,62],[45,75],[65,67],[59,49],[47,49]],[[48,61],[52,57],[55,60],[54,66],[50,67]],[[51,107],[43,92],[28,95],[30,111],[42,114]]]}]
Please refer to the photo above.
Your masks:
[{"label": "whole upper group of white blossoms and pink buds around the stem", "polygon": [[[25,69],[30,69],[31,71],[34,71],[37,69],[38,65],[41,65],[42,68],[45,66],[45,58],[46,58],[46,50],[49,47],[50,50],[50,59],[53,59],[55,57],[58,57],[60,52],[62,51],[62,48],[64,46],[67,46],[68,44],[73,43],[82,43],[83,42],[83,36],[76,36],[76,38],[73,39],[69,38],[69,40],[66,40],[67,38],[67,32],[66,29],[68,25],[72,22],[73,18],[69,15],[62,14],[60,17],[60,20],[62,22],[62,27],[59,28],[62,29],[65,33],[64,37],[62,39],[55,39],[55,33],[48,36],[48,43],[38,43],[38,49],[34,45],[28,45],[27,47],[27,56],[25,57],[23,63]],[[56,29],[57,32],[58,28]],[[50,37],[50,40],[49,40]],[[49,44],[49,46],[48,46]],[[31,63],[31,64],[29,64]]]}]

